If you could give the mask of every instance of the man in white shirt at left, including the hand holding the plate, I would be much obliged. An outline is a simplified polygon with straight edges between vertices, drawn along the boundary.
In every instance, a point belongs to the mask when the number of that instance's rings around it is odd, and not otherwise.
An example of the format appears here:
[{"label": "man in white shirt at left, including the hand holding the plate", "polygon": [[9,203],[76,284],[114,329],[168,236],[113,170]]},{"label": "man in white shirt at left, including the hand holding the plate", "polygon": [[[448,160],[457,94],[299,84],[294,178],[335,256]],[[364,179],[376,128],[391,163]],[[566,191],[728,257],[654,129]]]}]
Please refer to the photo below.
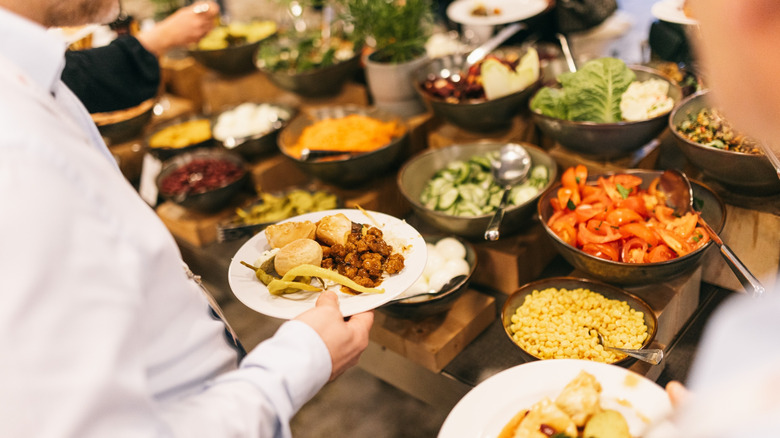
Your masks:
[{"label": "man in white shirt at left, including the hand holding the plate", "polygon": [[118,0],[0,0],[0,436],[287,437],[373,314],[333,293],[237,364],[170,233],[61,82],[51,26]]}]

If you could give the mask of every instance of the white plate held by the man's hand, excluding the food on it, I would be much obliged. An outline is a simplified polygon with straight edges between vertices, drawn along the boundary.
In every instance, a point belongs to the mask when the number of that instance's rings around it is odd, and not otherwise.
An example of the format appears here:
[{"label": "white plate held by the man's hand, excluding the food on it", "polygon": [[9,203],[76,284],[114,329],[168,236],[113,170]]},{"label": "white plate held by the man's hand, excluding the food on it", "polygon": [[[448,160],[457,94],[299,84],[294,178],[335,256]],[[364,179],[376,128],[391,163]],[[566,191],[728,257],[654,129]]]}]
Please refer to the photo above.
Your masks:
[{"label": "white plate held by the man's hand, excluding the food on it", "polygon": [[[370,218],[360,210],[340,209],[307,213],[280,222],[317,222],[325,216],[344,213],[356,223],[379,225],[385,241],[393,246],[394,251],[403,247],[404,269],[387,277],[379,288],[385,290],[382,294],[350,295],[338,292],[339,307],[344,316],[365,312],[387,303],[409,288],[423,272],[428,257],[425,240],[419,232],[406,222],[375,211],[367,212]],[[376,221],[376,224],[375,222]],[[247,307],[264,315],[281,319],[291,319],[300,313],[314,307],[319,294],[317,292],[296,292],[282,296],[271,295],[268,288],[261,283],[255,273],[243,266],[241,261],[254,264],[264,251],[271,249],[265,233],[255,234],[239,248],[230,261],[228,268],[228,283],[230,289]]]}]

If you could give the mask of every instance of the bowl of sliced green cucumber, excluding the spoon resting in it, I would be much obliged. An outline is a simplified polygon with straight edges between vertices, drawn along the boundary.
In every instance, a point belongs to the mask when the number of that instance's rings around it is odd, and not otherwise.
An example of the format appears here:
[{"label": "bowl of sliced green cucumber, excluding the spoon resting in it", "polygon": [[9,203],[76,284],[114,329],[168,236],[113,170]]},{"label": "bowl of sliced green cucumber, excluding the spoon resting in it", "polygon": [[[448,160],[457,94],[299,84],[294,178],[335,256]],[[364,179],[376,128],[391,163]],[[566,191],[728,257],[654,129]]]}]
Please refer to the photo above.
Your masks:
[{"label": "bowl of sliced green cucumber, excluding the spoon resting in it", "polygon": [[[493,180],[490,163],[506,143],[468,143],[432,149],[407,161],[398,187],[414,212],[437,229],[481,239],[501,202],[503,188]],[[502,236],[520,231],[534,216],[536,202],[557,177],[557,164],[545,151],[519,143],[531,156],[528,179],[509,192]]]}]

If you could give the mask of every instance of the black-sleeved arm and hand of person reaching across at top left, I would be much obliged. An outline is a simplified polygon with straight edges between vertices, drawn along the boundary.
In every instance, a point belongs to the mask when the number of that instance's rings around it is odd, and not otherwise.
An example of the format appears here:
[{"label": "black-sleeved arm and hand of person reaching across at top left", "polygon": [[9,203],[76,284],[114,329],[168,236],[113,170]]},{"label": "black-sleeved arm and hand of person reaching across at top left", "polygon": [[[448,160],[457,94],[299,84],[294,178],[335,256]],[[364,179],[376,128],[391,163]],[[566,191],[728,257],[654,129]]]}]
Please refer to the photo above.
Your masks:
[{"label": "black-sleeved arm and hand of person reaching across at top left", "polygon": [[214,28],[219,12],[213,1],[197,2],[137,35],[119,35],[103,47],[68,50],[62,81],[90,113],[139,105],[160,89],[158,58],[198,42]]}]

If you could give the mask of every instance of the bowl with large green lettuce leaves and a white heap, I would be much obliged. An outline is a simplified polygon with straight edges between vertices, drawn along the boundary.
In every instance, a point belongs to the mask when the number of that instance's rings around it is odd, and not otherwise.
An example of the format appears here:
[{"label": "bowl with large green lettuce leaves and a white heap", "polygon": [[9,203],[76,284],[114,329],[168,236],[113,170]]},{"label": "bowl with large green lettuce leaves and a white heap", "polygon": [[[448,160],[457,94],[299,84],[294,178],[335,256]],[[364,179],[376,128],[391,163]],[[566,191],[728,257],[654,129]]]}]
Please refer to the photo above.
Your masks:
[{"label": "bowl with large green lettuce leaves and a white heap", "polygon": [[557,81],[529,101],[534,122],[563,147],[597,159],[630,155],[650,143],[682,99],[679,85],[659,71],[615,58],[589,61]]}]

